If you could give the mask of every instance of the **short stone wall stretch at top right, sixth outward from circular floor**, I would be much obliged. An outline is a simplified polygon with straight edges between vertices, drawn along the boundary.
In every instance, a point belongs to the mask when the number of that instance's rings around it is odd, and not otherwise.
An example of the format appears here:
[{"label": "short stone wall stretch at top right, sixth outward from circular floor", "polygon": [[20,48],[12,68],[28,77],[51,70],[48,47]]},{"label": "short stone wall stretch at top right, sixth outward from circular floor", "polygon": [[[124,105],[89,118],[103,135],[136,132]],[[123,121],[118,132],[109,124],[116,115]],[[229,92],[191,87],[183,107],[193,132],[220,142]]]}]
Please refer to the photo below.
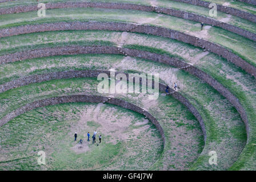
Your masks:
[{"label": "short stone wall stretch at top right, sixth outward from circular floor", "polygon": [[[172,1],[178,1],[178,2],[184,2],[190,5],[197,5],[197,6],[203,6],[206,8],[209,8],[209,5],[211,2],[201,1],[201,0],[172,0]],[[223,13],[231,14],[234,16],[238,16],[243,19],[247,19],[251,22],[256,22],[256,15],[247,13],[242,10],[234,9],[233,7],[227,7],[217,4],[217,10],[221,11]]]}]

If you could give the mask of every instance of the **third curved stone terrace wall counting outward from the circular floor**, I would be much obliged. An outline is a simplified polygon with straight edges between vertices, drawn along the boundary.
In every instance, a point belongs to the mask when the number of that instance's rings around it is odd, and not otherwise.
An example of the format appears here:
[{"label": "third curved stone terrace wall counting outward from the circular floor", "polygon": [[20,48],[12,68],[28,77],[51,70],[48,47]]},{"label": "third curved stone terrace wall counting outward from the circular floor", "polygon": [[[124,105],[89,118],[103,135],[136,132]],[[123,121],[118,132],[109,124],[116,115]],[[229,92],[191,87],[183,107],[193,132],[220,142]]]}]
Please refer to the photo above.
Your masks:
[{"label": "third curved stone terrace wall counting outward from the circular floor", "polygon": [[[227,100],[237,109],[238,113],[241,115],[243,122],[246,126],[246,133],[247,133],[247,141],[249,139],[250,134],[250,127],[247,120],[247,115],[245,109],[239,102],[238,98],[235,97],[228,89],[225,88],[222,84],[216,81],[213,77],[207,75],[207,73],[201,71],[198,68],[193,67],[183,61],[173,58],[167,55],[159,55],[157,53],[151,53],[147,51],[141,51],[138,49],[129,49],[129,48],[122,48],[121,52],[119,51],[120,48],[118,47],[111,47],[111,46],[67,46],[67,47],[55,47],[55,48],[42,48],[42,49],[35,49],[30,51],[22,51],[17,52],[9,55],[0,56],[0,60],[5,61],[5,63],[10,63],[18,60],[25,60],[25,59],[33,59],[36,57],[46,57],[46,56],[56,56],[56,55],[77,55],[77,54],[86,54],[86,53],[107,53],[107,54],[123,54],[139,57],[142,59],[148,59],[157,61],[159,63],[169,64],[173,67],[177,67],[179,69],[183,69],[186,72],[191,73],[194,76],[197,76],[201,80],[207,82],[210,86],[216,89],[222,96],[226,97]],[[6,85],[7,86],[7,85]],[[4,88],[2,87],[3,91]],[[162,90],[165,87],[161,87]],[[180,94],[174,93],[173,96],[177,99],[184,99],[181,97]],[[181,101],[182,102],[182,101]],[[183,103],[183,102],[182,102]],[[186,105],[186,102],[185,102]],[[186,105],[187,106],[187,105]],[[189,106],[187,106],[189,108]],[[195,111],[190,110],[191,113],[195,113]],[[200,120],[198,119],[200,122]],[[203,130],[203,129],[202,129]],[[205,132],[205,131],[203,131]]]}]

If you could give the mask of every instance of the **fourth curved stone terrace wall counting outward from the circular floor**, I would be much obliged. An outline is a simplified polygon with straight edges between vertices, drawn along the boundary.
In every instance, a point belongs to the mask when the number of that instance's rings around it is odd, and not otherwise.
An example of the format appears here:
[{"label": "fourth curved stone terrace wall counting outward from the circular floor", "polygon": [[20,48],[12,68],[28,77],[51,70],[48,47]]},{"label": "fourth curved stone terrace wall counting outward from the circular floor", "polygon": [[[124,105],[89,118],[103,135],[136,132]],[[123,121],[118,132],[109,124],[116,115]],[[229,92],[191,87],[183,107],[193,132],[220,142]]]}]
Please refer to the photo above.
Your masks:
[{"label": "fourth curved stone terrace wall counting outward from the circular floor", "polygon": [[[244,69],[256,77],[256,67],[247,63],[241,57],[235,55],[233,52],[218,44],[211,43],[207,40],[196,38],[179,31],[171,30],[169,28],[138,25],[133,23],[115,23],[115,22],[58,22],[58,23],[42,23],[42,24],[27,24],[25,26],[17,26],[10,28],[2,28],[0,30],[0,38],[6,36],[13,36],[19,34],[29,34],[33,32],[57,31],[57,30],[113,30],[113,31],[130,31],[139,32],[165,38],[179,40],[181,42],[192,44],[193,46],[208,49],[219,56],[224,57],[231,63]],[[6,63],[4,57],[0,60],[1,63]]]}]

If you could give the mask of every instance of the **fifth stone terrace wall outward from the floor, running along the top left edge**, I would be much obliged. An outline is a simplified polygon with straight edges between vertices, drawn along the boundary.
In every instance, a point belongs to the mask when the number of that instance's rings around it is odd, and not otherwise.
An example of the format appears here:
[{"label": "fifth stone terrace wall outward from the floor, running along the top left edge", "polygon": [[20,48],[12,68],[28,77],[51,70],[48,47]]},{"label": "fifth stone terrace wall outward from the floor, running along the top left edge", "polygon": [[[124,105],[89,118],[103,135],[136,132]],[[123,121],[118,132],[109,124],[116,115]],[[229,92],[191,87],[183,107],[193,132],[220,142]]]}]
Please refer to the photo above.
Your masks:
[{"label": "fifth stone terrace wall outward from the floor, running along the top left edge", "polygon": [[[171,16],[176,16],[178,18],[193,20],[195,22],[204,22],[206,24],[211,24],[215,27],[221,27],[230,32],[234,32],[235,34],[244,36],[245,38],[256,41],[256,34],[253,32],[244,30],[242,28],[233,26],[228,23],[219,22],[213,18],[207,18],[206,16],[197,15],[194,13],[189,13],[186,11],[175,10],[171,8],[165,7],[153,7],[153,6],[145,6],[145,5],[135,5],[128,3],[105,3],[105,2],[62,2],[62,3],[46,3],[46,9],[64,9],[71,7],[96,7],[96,8],[104,8],[104,9],[123,9],[123,10],[139,10],[139,11],[149,11],[149,12],[157,12],[163,13]],[[37,5],[19,5],[14,6],[8,9],[2,8],[0,9],[1,14],[13,14],[13,13],[24,13],[29,11],[37,11]]]}]

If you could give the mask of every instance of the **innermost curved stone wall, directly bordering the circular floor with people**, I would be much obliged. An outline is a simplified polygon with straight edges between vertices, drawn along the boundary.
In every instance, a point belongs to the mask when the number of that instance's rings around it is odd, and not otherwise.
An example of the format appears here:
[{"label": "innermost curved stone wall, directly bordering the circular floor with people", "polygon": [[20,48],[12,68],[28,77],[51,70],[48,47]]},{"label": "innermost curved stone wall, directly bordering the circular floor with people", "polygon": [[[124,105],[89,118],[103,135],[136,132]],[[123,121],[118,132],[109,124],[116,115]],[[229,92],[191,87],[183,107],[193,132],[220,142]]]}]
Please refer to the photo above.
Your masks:
[{"label": "innermost curved stone wall, directly bordering the circular floor with people", "polygon": [[103,102],[103,101],[105,101],[109,104],[121,106],[125,109],[130,109],[130,110],[136,111],[139,114],[145,115],[155,125],[155,127],[157,127],[157,129],[160,132],[161,137],[163,139],[163,146],[165,146],[165,133],[162,129],[162,126],[159,124],[157,119],[155,119],[153,117],[153,115],[151,115],[149,112],[143,110],[141,107],[131,104],[130,102],[123,101],[118,98],[110,98],[110,100],[109,100],[109,97],[103,97],[103,96],[73,95],[73,96],[52,97],[52,98],[46,98],[45,100],[41,100],[41,101],[31,102],[30,104],[22,106],[19,109],[11,111],[11,113],[5,115],[5,117],[3,117],[0,120],[0,126],[5,125],[5,123],[9,122],[11,119],[14,119],[18,115],[21,115],[23,113],[26,113],[27,111],[36,109],[38,107],[70,103],[70,102],[99,103],[99,102]]}]

